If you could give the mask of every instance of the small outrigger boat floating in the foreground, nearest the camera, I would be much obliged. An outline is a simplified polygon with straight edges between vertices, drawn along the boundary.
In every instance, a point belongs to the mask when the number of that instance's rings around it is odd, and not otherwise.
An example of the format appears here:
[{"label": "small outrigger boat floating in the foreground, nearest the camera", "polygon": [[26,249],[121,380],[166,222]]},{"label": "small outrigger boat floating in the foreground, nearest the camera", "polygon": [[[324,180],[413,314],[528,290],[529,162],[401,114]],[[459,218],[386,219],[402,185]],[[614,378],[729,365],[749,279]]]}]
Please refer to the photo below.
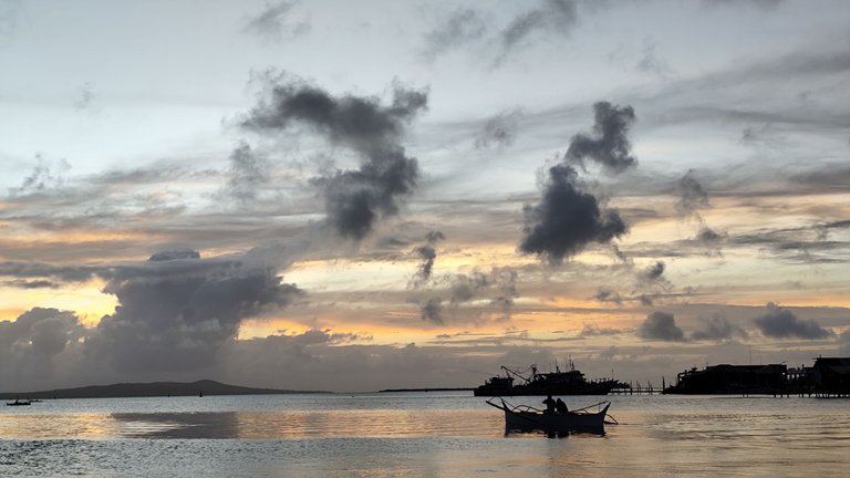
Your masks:
[{"label": "small outrigger boat floating in the foreground, nearest the camera", "polygon": [[[559,435],[570,432],[604,434],[605,423],[616,424],[613,418],[605,420],[611,402],[600,402],[566,413],[545,413],[529,405],[514,406],[504,398],[499,398],[498,403],[495,398],[488,399],[487,404],[505,412],[505,433],[539,430]],[[589,412],[593,407],[599,411]]]}]

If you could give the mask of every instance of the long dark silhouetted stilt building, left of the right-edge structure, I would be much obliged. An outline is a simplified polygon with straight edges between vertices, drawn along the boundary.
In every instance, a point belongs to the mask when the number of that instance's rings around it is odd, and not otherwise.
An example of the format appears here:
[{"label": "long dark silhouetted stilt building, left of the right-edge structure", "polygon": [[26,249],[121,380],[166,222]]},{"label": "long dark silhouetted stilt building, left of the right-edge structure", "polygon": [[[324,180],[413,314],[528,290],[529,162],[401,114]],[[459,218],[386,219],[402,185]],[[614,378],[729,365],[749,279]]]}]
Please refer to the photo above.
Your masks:
[{"label": "long dark silhouetted stilt building, left of the right-edge structure", "polygon": [[665,388],[665,394],[773,394],[788,391],[788,367],[785,364],[729,365],[696,367],[680,373],[676,384]]}]

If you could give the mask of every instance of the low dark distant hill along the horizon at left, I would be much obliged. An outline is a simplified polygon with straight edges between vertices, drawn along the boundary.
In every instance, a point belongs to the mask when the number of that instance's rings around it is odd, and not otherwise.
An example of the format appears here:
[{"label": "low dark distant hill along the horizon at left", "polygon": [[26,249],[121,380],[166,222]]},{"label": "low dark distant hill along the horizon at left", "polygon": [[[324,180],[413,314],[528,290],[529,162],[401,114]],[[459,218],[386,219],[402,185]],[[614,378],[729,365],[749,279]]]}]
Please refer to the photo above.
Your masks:
[{"label": "low dark distant hill along the horizon at left", "polygon": [[297,393],[329,393],[319,391],[288,391],[251,388],[201,380],[197,382],[154,382],[93,385],[42,392],[0,393],[0,399],[14,398],[118,398],[146,396],[198,396],[204,395],[272,395]]}]

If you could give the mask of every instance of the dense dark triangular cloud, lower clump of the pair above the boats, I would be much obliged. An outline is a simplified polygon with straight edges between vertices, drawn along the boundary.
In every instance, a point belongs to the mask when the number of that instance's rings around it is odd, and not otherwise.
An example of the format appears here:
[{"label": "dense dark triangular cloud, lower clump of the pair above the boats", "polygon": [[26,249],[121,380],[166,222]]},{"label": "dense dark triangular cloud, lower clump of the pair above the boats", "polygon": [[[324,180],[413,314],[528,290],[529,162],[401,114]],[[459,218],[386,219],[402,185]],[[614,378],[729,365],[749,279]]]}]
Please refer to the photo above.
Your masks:
[{"label": "dense dark triangular cloud, lower clump of the pair above the boats", "polygon": [[581,252],[591,242],[607,243],[628,230],[618,211],[600,209],[576,169],[563,164],[549,169],[541,202],[526,206],[524,215],[526,237],[520,251],[536,253],[553,264]]}]

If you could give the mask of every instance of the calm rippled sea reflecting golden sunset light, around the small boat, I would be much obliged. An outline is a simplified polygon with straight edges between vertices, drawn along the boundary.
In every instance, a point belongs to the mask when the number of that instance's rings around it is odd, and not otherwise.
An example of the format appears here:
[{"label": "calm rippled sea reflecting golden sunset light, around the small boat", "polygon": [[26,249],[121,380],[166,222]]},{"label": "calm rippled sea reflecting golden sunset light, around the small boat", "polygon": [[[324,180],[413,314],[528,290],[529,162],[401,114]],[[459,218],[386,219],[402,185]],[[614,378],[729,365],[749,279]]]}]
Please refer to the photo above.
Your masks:
[{"label": "calm rippled sea reflecting golden sunset light, around the small boat", "polygon": [[849,399],[609,398],[620,425],[563,438],[469,392],[44,401],[0,409],[0,476],[850,476]]}]

